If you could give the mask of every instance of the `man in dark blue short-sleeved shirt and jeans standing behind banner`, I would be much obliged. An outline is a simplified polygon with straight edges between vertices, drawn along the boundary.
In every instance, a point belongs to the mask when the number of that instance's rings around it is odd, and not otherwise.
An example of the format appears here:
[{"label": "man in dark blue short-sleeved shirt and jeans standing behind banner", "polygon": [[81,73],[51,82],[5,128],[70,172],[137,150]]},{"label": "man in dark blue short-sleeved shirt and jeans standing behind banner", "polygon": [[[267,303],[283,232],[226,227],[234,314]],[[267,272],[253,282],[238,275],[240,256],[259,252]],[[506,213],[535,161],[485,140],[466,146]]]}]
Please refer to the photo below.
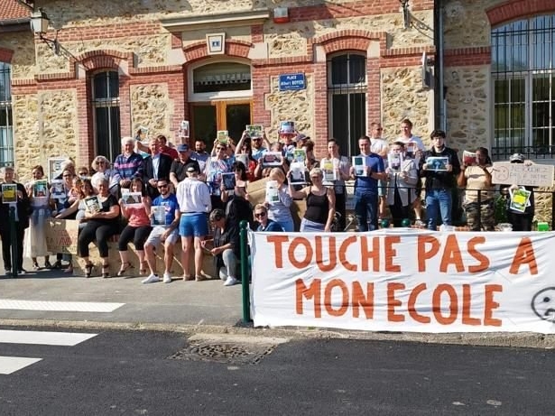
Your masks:
[{"label": "man in dark blue short-sleeved shirt and jeans standing behind banner", "polygon": [[355,215],[358,231],[373,231],[378,228],[378,180],[385,180],[384,160],[370,151],[370,138],[363,135],[358,139],[358,148],[363,158],[362,171],[351,166],[351,179],[355,180]]}]

